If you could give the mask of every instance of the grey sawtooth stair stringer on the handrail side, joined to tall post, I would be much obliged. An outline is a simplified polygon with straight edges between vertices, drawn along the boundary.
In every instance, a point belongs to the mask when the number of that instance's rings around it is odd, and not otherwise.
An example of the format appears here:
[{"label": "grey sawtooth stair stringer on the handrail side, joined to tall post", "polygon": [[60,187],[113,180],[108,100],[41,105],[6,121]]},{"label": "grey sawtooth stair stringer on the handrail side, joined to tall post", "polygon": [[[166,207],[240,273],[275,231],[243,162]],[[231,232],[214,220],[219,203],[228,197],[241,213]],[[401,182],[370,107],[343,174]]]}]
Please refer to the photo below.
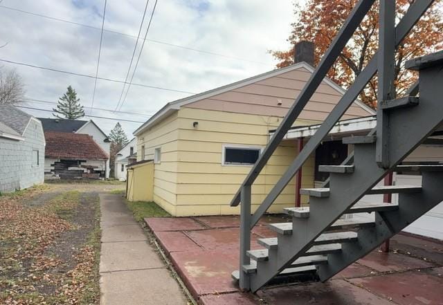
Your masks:
[{"label": "grey sawtooth stair stringer on the handrail side, joined to tall post", "polygon": [[[420,71],[419,81],[419,107],[389,113],[389,169],[406,158],[443,122],[442,67]],[[314,239],[388,173],[387,169],[379,168],[375,162],[375,145],[356,145],[354,165],[353,174],[343,176],[332,173],[330,196],[311,197],[309,218],[293,218],[293,233],[289,236],[279,235],[278,248],[269,250],[269,260],[257,262],[257,272],[250,277],[253,292],[302,256]]]}]

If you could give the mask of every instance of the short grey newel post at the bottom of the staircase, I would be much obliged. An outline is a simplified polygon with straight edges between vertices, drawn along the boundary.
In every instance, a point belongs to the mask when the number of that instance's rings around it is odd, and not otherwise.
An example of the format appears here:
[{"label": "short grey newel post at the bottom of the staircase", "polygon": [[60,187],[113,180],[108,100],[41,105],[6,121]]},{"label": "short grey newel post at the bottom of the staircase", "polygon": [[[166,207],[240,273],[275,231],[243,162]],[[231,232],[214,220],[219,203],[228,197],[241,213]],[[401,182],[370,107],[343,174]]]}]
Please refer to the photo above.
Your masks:
[{"label": "short grey newel post at the bottom of the staircase", "polygon": [[251,185],[243,185],[240,194],[240,266],[239,287],[247,291],[251,284],[249,275],[244,272],[243,266],[251,264],[251,259],[246,252],[251,250]]}]

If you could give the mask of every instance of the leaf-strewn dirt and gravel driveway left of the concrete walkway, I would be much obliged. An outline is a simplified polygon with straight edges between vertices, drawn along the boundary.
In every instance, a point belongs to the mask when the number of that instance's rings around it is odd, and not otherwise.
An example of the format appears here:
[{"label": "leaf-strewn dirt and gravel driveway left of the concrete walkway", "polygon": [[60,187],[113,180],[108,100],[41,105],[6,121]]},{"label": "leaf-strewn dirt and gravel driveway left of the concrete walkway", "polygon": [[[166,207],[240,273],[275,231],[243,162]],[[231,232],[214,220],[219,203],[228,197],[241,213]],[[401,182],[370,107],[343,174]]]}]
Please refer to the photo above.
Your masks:
[{"label": "leaf-strewn dirt and gravel driveway left of the concrete walkway", "polygon": [[51,185],[0,196],[0,304],[98,304],[99,192]]}]

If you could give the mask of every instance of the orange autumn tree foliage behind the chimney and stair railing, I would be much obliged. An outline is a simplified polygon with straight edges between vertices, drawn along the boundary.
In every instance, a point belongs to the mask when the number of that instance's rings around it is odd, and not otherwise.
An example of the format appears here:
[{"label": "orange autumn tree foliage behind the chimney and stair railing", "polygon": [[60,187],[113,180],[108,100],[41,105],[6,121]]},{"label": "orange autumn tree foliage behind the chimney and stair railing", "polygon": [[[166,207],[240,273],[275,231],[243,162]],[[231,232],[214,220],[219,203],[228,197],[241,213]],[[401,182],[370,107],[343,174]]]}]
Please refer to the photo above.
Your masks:
[{"label": "orange autumn tree foliage behind the chimney and stair railing", "polygon": [[[397,0],[396,24],[413,1]],[[295,3],[294,13],[298,21],[291,24],[291,35],[287,39],[291,48],[270,51],[275,59],[278,59],[277,67],[282,68],[293,64],[293,45],[303,40],[314,42],[315,64],[318,64],[356,2],[357,0],[307,0],[304,8],[300,8]],[[378,1],[376,1],[327,74],[329,78],[344,88],[354,82],[374,53],[377,52],[378,10]],[[404,62],[442,49],[443,0],[437,0],[397,48],[395,58],[397,95],[404,94],[417,80],[415,73],[404,69]],[[360,99],[370,107],[377,107],[377,77],[372,78],[370,84],[361,93]]]}]

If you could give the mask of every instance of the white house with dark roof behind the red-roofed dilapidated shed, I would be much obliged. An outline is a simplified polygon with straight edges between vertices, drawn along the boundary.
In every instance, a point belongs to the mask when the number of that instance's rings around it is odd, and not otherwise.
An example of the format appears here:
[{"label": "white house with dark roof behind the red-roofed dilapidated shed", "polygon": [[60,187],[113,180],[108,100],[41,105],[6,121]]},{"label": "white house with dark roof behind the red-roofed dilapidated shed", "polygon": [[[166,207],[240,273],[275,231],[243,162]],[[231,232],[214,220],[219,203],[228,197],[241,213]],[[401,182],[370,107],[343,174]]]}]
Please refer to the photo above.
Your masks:
[{"label": "white house with dark roof behind the red-roofed dilapidated shed", "polygon": [[[84,133],[93,138],[93,140],[101,147],[103,151],[109,156],[111,149],[111,142],[107,134],[104,133],[93,120],[65,120],[58,118],[39,118],[42,121],[44,131],[53,131],[57,133]],[[51,168],[55,167],[55,162],[60,160],[53,160],[52,158],[45,159],[45,172],[51,172]],[[107,158],[103,170],[102,178],[109,178],[109,158]]]}]

